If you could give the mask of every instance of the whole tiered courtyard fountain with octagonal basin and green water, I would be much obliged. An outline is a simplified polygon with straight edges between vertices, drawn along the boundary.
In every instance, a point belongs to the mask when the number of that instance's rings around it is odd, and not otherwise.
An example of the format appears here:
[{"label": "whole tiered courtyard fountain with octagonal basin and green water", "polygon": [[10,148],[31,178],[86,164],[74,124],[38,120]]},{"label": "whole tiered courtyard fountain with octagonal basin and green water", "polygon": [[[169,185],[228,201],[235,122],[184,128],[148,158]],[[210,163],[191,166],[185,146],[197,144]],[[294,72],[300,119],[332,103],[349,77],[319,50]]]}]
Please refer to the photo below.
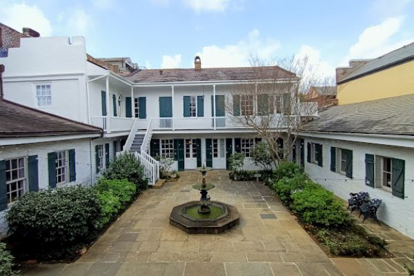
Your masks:
[{"label": "whole tiered courtyard fountain with octagonal basin and green water", "polygon": [[239,213],[235,206],[219,201],[210,201],[208,190],[215,188],[214,184],[206,183],[209,167],[197,168],[201,172],[201,184],[193,185],[200,191],[199,201],[189,201],[172,208],[170,224],[189,234],[218,234],[239,224]]}]

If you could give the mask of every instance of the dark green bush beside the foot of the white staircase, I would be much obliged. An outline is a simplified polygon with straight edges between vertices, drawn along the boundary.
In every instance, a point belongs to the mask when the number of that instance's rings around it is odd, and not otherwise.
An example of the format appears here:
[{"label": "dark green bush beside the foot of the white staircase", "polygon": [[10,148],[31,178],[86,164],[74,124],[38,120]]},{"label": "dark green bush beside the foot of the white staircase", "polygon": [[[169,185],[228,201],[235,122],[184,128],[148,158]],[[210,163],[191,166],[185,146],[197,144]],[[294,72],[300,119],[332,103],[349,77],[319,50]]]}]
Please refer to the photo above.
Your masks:
[{"label": "dark green bush beside the foot of the white staircase", "polygon": [[137,186],[138,192],[148,188],[148,180],[144,179],[144,168],[138,159],[129,152],[117,155],[109,168],[103,171],[103,177],[107,179],[128,179]]}]

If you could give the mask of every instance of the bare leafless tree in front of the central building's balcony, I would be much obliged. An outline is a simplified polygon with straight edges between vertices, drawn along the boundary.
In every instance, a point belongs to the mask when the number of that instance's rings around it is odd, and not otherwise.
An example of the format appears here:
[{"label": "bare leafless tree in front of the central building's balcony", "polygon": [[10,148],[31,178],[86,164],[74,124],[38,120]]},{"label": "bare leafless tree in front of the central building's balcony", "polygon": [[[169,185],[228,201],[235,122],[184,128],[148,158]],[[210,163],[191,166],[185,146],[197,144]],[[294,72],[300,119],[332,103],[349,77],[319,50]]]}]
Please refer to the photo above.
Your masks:
[{"label": "bare leafless tree in front of the central building's balcony", "polygon": [[288,159],[301,126],[317,115],[316,104],[300,99],[318,80],[307,58],[275,62],[252,58],[250,63],[254,80],[233,88],[226,112],[233,124],[255,130],[267,142],[277,166]]}]

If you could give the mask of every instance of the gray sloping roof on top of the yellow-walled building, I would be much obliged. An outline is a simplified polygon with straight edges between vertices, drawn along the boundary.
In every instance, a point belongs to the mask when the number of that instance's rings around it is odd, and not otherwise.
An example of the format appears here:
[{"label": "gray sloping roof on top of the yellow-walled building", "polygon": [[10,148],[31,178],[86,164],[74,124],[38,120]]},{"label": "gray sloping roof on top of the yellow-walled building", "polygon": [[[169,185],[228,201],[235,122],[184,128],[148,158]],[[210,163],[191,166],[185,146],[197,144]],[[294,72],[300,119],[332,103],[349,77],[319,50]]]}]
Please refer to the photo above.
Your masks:
[{"label": "gray sloping roof on top of the yellow-walled building", "polygon": [[348,75],[338,81],[338,83],[344,83],[351,79],[357,79],[363,75],[367,75],[378,70],[383,70],[397,64],[410,61],[414,59],[414,42],[410,43],[402,48],[388,52],[381,57],[377,57],[372,61],[368,61],[362,66],[355,68]]}]

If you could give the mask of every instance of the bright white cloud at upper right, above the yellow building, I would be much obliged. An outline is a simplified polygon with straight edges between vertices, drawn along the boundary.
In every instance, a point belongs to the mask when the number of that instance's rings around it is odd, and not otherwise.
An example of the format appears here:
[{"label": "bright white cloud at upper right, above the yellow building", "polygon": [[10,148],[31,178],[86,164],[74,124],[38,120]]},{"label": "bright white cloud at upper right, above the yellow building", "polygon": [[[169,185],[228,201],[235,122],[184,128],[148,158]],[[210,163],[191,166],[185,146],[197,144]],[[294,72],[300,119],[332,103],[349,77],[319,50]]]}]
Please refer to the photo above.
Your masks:
[{"label": "bright white cloud at upper right, above the yellow building", "polygon": [[400,48],[412,41],[391,41],[393,36],[400,32],[404,17],[390,17],[379,25],[366,28],[359,35],[357,43],[349,48],[349,53],[342,61],[342,65],[347,65],[349,59],[370,59],[379,57]]}]

